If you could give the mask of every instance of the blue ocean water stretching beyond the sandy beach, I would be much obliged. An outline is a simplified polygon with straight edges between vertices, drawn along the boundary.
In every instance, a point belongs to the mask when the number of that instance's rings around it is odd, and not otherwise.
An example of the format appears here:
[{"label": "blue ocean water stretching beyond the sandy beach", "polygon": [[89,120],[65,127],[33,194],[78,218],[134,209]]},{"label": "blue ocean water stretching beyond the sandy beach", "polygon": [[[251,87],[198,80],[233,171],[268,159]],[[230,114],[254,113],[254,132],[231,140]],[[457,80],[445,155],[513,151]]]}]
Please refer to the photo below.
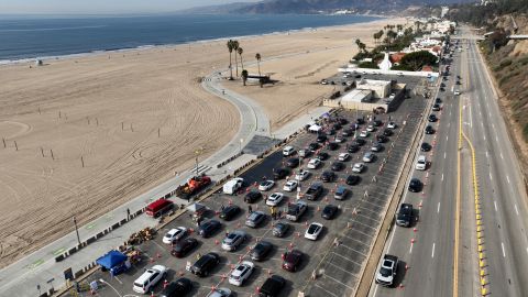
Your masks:
[{"label": "blue ocean water stretching beyond the sandy beach", "polygon": [[[364,15],[0,16],[0,63],[374,21]],[[353,36],[351,36],[351,40]]]}]

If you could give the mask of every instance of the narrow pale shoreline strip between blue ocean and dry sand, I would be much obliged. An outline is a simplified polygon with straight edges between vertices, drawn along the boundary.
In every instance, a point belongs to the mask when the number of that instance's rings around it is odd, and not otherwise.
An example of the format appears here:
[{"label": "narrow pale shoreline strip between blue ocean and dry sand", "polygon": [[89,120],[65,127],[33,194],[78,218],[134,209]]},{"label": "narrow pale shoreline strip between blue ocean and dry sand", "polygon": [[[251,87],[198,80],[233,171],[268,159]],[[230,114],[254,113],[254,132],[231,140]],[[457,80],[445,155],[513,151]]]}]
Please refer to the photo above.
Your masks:
[{"label": "narrow pale shoreline strip between blue ocean and dry sand", "polygon": [[[331,14],[329,14],[331,16]],[[98,55],[106,55],[106,54],[116,54],[116,53],[134,53],[134,52],[142,52],[146,50],[156,50],[156,48],[173,48],[175,46],[185,46],[185,45],[194,45],[194,44],[202,44],[202,43],[213,43],[213,42],[221,42],[228,40],[244,40],[244,38],[254,38],[254,37],[264,37],[264,36],[273,36],[273,35],[282,35],[282,34],[290,34],[290,33],[298,33],[298,32],[309,32],[309,31],[317,31],[317,30],[329,30],[336,29],[340,26],[348,26],[354,24],[366,24],[372,22],[378,22],[387,16],[383,15],[371,15],[371,14],[353,14],[353,16],[367,16],[367,18],[376,18],[366,22],[355,22],[349,24],[339,24],[339,25],[324,25],[324,26],[315,26],[315,28],[301,28],[301,29],[290,29],[284,31],[275,31],[270,33],[262,33],[262,34],[250,34],[250,35],[232,35],[227,37],[219,37],[219,38],[205,38],[205,40],[195,40],[188,42],[176,42],[176,43],[166,43],[166,44],[143,44],[133,47],[121,47],[121,48],[102,48],[102,50],[95,50],[91,52],[81,52],[81,53],[74,53],[74,54],[65,54],[65,55],[52,55],[52,56],[32,56],[32,57],[24,57],[19,59],[0,59],[0,67],[4,65],[20,65],[20,64],[30,64],[34,63],[37,59],[43,62],[46,61],[62,61],[62,59],[73,59],[73,58],[85,58],[90,56],[98,56]]]}]

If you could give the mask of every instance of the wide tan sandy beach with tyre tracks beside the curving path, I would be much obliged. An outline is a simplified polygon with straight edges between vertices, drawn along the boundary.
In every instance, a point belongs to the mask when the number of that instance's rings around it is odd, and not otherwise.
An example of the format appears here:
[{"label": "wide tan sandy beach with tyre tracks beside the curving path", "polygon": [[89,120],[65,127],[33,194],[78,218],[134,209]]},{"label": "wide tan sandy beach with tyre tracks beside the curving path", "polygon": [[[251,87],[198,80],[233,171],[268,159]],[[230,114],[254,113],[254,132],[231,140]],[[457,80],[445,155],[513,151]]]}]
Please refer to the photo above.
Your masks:
[{"label": "wide tan sandy beach with tyre tracks beside the curving path", "polygon": [[[278,82],[223,84],[276,130],[318,106],[331,91],[318,81],[388,23],[405,19],[239,38],[249,72],[260,53]],[[72,216],[81,226],[190,168],[196,150],[206,158],[239,129],[237,109],[199,85],[229,65],[226,41],[44,63],[0,67],[0,267],[70,232]]]}]

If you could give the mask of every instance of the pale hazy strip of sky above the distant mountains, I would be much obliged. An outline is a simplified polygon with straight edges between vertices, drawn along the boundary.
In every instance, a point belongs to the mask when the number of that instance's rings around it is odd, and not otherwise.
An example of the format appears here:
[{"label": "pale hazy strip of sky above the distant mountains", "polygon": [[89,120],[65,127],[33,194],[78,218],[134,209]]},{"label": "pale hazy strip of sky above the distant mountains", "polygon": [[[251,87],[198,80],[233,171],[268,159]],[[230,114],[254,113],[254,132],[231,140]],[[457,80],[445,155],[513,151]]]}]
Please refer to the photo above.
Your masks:
[{"label": "pale hazy strip of sky above the distant mountains", "polygon": [[0,0],[0,14],[157,13],[258,0]]}]

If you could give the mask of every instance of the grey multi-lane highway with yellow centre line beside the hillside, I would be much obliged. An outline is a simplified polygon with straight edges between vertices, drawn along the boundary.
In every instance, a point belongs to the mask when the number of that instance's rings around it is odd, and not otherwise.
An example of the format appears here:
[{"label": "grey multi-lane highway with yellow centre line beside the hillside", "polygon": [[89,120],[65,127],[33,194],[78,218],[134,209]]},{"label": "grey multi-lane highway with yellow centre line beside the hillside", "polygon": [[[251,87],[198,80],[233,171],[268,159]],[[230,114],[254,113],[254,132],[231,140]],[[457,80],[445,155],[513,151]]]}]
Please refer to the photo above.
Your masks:
[{"label": "grey multi-lane highway with yellow centre line beside the hillside", "polygon": [[[471,32],[463,30],[463,34],[469,36]],[[425,183],[424,190],[407,191],[402,199],[414,205],[417,221],[410,228],[395,226],[385,244],[384,253],[402,261],[396,288],[373,282],[370,296],[481,296],[482,293],[526,296],[528,293],[527,207],[520,169],[476,44],[473,38],[460,44],[463,50],[453,55],[446,91],[438,94],[442,110],[433,112],[439,118],[432,124],[436,133],[424,134],[424,141],[433,148],[416,152],[416,156],[426,155],[430,166],[426,172],[413,168],[407,180],[408,184],[411,177],[419,178]],[[457,75],[461,76],[460,86],[455,85]],[[462,92],[460,97],[453,95],[458,89]],[[460,155],[459,122],[468,136],[468,141],[462,138]],[[471,145],[475,153],[476,190]],[[477,208],[475,194],[480,196]],[[458,197],[460,228],[455,220]],[[482,278],[477,209],[482,216]]]}]

